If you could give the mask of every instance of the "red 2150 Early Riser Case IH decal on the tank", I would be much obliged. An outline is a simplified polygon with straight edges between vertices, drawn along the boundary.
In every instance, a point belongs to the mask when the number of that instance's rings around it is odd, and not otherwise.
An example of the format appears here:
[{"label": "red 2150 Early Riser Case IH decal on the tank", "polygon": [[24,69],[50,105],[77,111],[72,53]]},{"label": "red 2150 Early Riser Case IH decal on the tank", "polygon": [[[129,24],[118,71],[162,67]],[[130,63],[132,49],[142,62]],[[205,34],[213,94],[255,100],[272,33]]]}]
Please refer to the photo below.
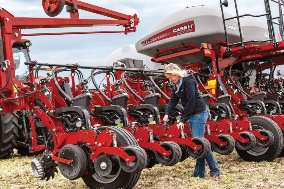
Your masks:
[{"label": "red 2150 Early Riser Case IH decal on the tank", "polygon": [[173,26],[171,28],[168,28],[164,31],[161,31],[160,33],[157,33],[153,35],[152,37],[149,37],[145,41],[142,41],[141,45],[142,47],[149,45],[151,43],[154,43],[156,41],[160,41],[162,39],[166,39],[169,37],[174,37],[177,35],[182,35],[185,33],[190,33],[195,31],[194,21],[188,21],[184,22],[182,24]]}]

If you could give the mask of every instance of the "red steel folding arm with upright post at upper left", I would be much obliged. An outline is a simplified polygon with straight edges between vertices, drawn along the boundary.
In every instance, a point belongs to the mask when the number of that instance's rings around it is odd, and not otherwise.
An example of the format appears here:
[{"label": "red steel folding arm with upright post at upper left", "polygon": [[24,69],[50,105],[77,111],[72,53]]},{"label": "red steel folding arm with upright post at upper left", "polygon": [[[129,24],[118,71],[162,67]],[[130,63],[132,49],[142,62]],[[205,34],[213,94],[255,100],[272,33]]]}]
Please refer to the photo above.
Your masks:
[{"label": "red steel folding arm with upright post at upper left", "polygon": [[[130,33],[135,32],[139,23],[139,18],[136,14],[133,16],[125,15],[119,12],[104,9],[95,5],[84,3],[77,0],[42,0],[42,7],[45,13],[50,17],[55,17],[67,5],[66,11],[70,13],[70,19],[63,18],[28,18],[28,17],[14,17],[11,13],[1,7],[0,4],[0,88],[1,92],[6,96],[0,96],[0,111],[5,109],[13,112],[27,107],[27,98],[18,98],[23,96],[18,92],[24,87],[23,82],[15,79],[15,68],[13,61],[12,45],[16,41],[21,41],[22,36],[31,35],[66,35],[66,34],[90,34],[90,33]],[[113,19],[80,19],[78,9],[104,15]],[[35,33],[22,34],[22,29],[42,29],[42,28],[69,28],[69,27],[93,27],[93,26],[122,26],[123,31],[91,31],[91,32],[69,32],[69,33]],[[2,45],[3,43],[3,45]],[[3,52],[3,53],[2,53]],[[5,64],[2,63],[5,61]],[[7,64],[6,64],[7,63]],[[7,78],[7,71],[9,77]],[[32,73],[32,67],[30,67]],[[31,74],[30,74],[31,75]],[[8,80],[8,83],[6,84]],[[33,82],[31,75],[31,82]],[[17,86],[17,89],[15,88]],[[33,91],[33,87],[23,89]],[[13,98],[17,100],[12,100]],[[9,98],[9,99],[7,99]],[[30,100],[30,99],[29,99]],[[8,104],[7,104],[8,103]],[[6,108],[1,108],[3,105],[8,105]],[[12,107],[13,104],[13,107]],[[4,106],[5,106],[4,105]],[[31,104],[30,104],[31,105]],[[9,108],[8,108],[9,107]]]}]

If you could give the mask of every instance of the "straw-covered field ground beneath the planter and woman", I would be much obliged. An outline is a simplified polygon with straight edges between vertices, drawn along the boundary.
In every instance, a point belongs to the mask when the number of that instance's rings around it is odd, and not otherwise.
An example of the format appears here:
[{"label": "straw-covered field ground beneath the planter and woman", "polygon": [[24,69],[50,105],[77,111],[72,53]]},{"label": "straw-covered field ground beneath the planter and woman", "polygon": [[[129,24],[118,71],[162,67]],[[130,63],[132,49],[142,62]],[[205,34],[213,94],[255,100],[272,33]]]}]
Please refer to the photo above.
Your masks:
[{"label": "straw-covered field ground beneath the planter and woman", "polygon": [[[284,188],[284,158],[277,158],[274,162],[256,163],[243,161],[236,151],[227,156],[215,155],[222,170],[217,178],[209,176],[208,166],[206,178],[191,178],[195,160],[188,158],[173,167],[156,165],[143,170],[135,189]],[[33,176],[30,162],[30,156],[20,156],[17,150],[11,158],[0,160],[0,188],[87,189],[82,179],[68,180],[60,172],[48,182],[41,181]]]}]

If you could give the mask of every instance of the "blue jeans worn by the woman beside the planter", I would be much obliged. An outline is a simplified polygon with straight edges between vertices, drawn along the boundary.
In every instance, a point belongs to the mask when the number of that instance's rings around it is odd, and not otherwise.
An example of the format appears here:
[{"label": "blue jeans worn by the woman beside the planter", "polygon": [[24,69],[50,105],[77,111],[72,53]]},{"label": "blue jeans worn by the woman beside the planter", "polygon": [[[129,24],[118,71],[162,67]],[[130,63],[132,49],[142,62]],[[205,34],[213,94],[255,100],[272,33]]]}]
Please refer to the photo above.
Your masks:
[{"label": "blue jeans worn by the woman beside the planter", "polygon": [[[200,114],[190,116],[188,123],[189,123],[192,137],[196,137],[196,136],[204,137],[205,125],[206,125],[207,119],[208,119],[207,110],[204,112],[201,112]],[[211,149],[210,149],[209,156],[206,158],[206,161],[209,165],[211,176],[218,175],[221,173],[221,170],[218,166],[218,163]],[[201,177],[201,178],[205,176],[205,159],[196,160],[195,170],[192,176]]]}]

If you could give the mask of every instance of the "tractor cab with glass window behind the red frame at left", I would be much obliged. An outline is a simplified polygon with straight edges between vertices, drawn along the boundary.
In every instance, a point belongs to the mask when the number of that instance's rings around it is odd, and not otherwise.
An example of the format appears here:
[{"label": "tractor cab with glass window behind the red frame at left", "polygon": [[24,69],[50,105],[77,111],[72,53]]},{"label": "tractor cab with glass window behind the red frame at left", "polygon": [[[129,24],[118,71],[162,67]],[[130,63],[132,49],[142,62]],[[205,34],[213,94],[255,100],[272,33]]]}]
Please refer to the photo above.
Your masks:
[{"label": "tractor cab with glass window behind the red frame at left", "polygon": [[31,57],[29,56],[29,47],[31,42],[27,39],[21,39],[13,44],[13,57],[15,66],[16,79],[21,81],[29,78],[29,69],[25,62],[30,62]]}]

